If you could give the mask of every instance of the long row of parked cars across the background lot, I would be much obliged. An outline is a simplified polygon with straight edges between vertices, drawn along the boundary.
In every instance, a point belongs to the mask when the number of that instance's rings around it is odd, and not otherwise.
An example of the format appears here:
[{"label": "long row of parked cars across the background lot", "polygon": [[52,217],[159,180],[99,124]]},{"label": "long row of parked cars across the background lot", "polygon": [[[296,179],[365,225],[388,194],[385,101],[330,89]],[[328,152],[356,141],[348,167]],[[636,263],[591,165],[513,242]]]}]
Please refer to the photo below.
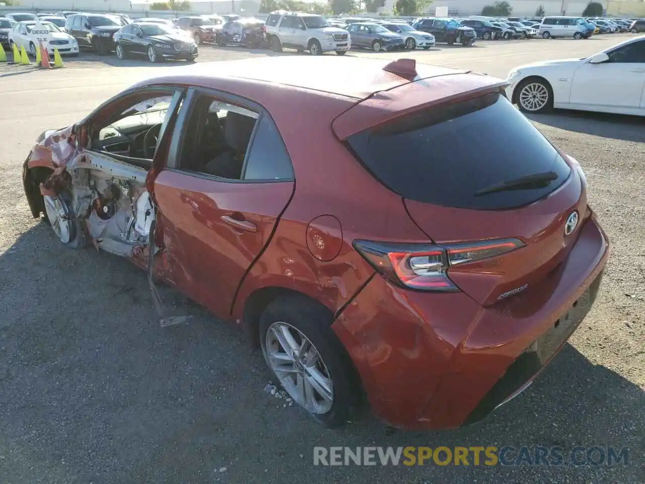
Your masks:
[{"label": "long row of parked cars across the background lot", "polygon": [[150,61],[197,57],[197,46],[243,45],[250,48],[283,48],[345,54],[350,48],[374,52],[395,49],[429,49],[435,43],[471,46],[479,39],[586,39],[594,33],[640,32],[643,19],[585,19],[546,16],[541,19],[420,17],[414,21],[366,17],[326,19],[322,15],[276,10],[266,22],[239,15],[188,15],[177,19],[124,14],[89,14],[65,10],[56,14],[13,13],[0,17],[0,44],[17,45],[35,55],[32,28],[39,21],[50,30],[50,52],[78,55],[91,49],[99,55],[115,52],[119,58],[146,55]]}]

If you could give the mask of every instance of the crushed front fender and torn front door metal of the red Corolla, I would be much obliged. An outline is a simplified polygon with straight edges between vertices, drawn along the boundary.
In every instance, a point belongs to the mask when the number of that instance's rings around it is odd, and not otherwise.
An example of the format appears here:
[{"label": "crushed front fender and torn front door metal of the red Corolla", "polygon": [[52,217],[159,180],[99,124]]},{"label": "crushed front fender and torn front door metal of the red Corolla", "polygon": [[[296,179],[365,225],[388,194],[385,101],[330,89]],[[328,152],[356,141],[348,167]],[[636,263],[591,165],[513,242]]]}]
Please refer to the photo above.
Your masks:
[{"label": "crushed front fender and torn front door metal of the red Corolla", "polygon": [[[79,150],[75,126],[45,136],[23,170],[34,216],[44,212],[54,226],[60,222],[57,211],[62,211],[61,216],[74,219],[77,227],[84,225],[95,247],[126,257],[148,245],[154,210],[145,188],[147,176],[148,171],[138,166]],[[63,230],[68,226],[67,220]]]}]

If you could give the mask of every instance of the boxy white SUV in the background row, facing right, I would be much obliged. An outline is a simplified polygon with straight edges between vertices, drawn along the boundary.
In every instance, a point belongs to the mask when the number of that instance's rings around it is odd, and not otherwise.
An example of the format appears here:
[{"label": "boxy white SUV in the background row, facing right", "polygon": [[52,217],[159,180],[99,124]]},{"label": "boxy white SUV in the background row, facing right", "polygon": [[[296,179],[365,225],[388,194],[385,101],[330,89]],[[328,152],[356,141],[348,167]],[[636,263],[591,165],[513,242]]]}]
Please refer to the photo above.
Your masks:
[{"label": "boxy white SUV in the background row, facing right", "polygon": [[271,12],[266,18],[266,40],[275,52],[287,47],[308,50],[312,55],[332,50],[343,55],[352,47],[347,30],[330,26],[322,15],[284,10]]}]

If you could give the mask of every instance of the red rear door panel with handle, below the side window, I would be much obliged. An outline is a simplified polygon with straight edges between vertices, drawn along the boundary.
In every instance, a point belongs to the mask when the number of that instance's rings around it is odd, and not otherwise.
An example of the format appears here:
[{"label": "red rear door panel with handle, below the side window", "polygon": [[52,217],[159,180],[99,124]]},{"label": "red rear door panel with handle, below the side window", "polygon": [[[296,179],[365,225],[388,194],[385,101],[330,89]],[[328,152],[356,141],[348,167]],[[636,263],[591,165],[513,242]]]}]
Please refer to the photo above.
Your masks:
[{"label": "red rear door panel with handle, below the side window", "polygon": [[[218,316],[228,316],[237,287],[270,240],[293,185],[230,183],[162,171],[154,194],[170,254],[170,281]],[[242,223],[231,225],[230,218]]]}]

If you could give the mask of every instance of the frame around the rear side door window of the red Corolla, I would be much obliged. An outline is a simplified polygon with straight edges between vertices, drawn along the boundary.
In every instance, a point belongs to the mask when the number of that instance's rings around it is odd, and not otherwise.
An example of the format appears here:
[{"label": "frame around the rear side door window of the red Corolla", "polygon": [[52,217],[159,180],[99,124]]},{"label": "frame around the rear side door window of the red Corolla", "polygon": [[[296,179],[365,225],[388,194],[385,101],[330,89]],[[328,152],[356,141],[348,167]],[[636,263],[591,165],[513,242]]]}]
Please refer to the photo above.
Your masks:
[{"label": "frame around the rear side door window of the red Corolla", "polygon": [[[255,120],[255,126],[253,126],[253,132],[248,142],[248,148],[250,149],[247,149],[246,153],[244,154],[244,162],[242,165],[242,171],[241,171],[239,180],[219,177],[219,176],[215,176],[215,175],[211,175],[203,172],[195,172],[193,170],[186,170],[186,168],[179,167],[179,164],[181,163],[181,151],[182,151],[181,139],[184,138],[184,134],[188,130],[188,120],[190,119],[190,114],[192,114],[195,103],[197,102],[197,99],[199,99],[199,96],[217,97],[217,99],[221,99],[221,101],[228,102],[230,104],[240,106],[241,108],[256,112],[258,115],[257,119]],[[257,131],[259,129],[260,123],[264,119],[264,117],[268,117],[270,122],[273,123],[273,126],[275,126],[277,134],[281,137],[281,141],[284,145],[284,151],[286,152],[286,155],[289,158],[289,163],[291,164],[291,168],[292,168],[291,178],[259,179],[259,180],[244,179],[244,175],[246,174],[246,168],[248,166],[248,159],[251,154],[251,150],[253,149],[253,143],[255,142],[255,136],[257,135]],[[260,105],[259,103],[256,103],[255,101],[251,101],[246,97],[237,96],[230,92],[225,92],[225,91],[221,91],[213,88],[207,88],[202,86],[190,86],[186,90],[186,96],[184,97],[184,104],[182,106],[181,111],[179,112],[179,116],[177,117],[177,123],[175,123],[175,126],[181,126],[181,129],[177,129],[175,127],[175,131],[173,132],[172,138],[170,139],[168,156],[166,158],[166,166],[164,166],[162,170],[168,170],[171,172],[186,174],[186,175],[198,177],[201,179],[208,179],[211,181],[219,181],[221,183],[256,183],[257,184],[257,183],[285,183],[285,182],[293,183],[295,182],[295,170],[293,169],[293,161],[291,159],[291,155],[289,154],[289,150],[286,147],[284,137],[280,133],[280,130],[278,129],[275,123],[275,120],[268,112],[268,110],[266,110],[264,106]]]}]

